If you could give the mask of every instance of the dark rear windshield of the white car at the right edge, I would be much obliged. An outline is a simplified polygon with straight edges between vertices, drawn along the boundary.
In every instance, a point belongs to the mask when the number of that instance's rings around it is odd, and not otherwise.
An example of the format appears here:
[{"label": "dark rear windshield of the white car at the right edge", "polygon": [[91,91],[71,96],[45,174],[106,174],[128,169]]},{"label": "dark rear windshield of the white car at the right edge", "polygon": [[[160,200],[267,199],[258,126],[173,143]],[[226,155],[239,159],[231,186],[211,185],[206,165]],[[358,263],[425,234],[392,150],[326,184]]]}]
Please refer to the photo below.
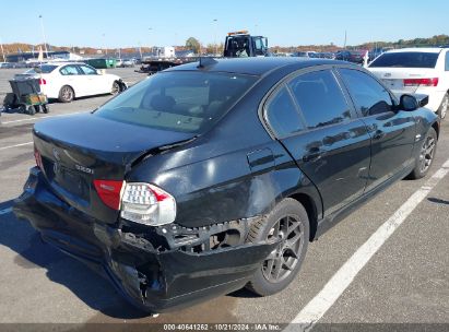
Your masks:
[{"label": "dark rear windshield of the white car at the right edge", "polygon": [[433,52],[387,52],[373,61],[369,67],[435,68],[438,54]]}]

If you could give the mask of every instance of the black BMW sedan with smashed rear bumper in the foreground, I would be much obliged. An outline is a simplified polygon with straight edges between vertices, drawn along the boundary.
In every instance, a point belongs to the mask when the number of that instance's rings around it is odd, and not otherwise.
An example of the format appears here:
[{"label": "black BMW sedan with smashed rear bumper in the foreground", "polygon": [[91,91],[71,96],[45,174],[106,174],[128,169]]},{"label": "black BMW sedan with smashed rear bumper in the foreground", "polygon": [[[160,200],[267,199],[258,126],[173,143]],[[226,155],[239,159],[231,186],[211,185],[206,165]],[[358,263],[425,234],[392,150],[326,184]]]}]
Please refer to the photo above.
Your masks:
[{"label": "black BMW sedan with smashed rear bumper in the foreground", "polygon": [[[34,127],[14,212],[163,312],[285,288],[308,242],[435,156],[426,97],[332,60],[203,60]],[[351,236],[351,235],[348,235]]]}]

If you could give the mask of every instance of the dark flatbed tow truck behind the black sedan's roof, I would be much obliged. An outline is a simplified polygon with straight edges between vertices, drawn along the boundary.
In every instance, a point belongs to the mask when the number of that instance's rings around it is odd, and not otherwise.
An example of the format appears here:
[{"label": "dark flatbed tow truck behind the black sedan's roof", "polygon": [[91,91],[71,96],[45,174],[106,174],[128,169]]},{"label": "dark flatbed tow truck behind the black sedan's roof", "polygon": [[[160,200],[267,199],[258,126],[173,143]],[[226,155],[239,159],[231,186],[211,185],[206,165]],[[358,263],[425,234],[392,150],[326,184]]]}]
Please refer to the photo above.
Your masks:
[{"label": "dark flatbed tow truck behind the black sedan's roof", "polygon": [[[167,49],[161,48],[163,50]],[[164,69],[175,66],[197,62],[201,57],[175,58],[172,52],[157,51],[157,58],[151,58],[142,61],[142,67],[138,72],[152,75]],[[167,54],[167,55],[166,55]],[[170,56],[168,56],[170,55]],[[224,58],[246,58],[246,57],[267,57],[268,38],[263,36],[251,36],[248,31],[237,31],[227,34],[224,44]],[[214,57],[215,58],[215,57]]]}]

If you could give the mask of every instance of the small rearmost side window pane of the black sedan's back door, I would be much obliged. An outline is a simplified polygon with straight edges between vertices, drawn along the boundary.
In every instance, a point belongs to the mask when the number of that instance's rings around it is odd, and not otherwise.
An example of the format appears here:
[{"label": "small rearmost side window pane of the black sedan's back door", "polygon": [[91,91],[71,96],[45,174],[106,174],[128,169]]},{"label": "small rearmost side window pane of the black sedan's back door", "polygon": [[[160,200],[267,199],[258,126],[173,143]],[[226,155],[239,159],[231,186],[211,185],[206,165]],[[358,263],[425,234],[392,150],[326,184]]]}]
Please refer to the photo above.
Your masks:
[{"label": "small rearmost side window pane of the black sedan's back door", "polygon": [[304,129],[298,110],[285,86],[269,102],[265,118],[277,138],[285,138]]}]

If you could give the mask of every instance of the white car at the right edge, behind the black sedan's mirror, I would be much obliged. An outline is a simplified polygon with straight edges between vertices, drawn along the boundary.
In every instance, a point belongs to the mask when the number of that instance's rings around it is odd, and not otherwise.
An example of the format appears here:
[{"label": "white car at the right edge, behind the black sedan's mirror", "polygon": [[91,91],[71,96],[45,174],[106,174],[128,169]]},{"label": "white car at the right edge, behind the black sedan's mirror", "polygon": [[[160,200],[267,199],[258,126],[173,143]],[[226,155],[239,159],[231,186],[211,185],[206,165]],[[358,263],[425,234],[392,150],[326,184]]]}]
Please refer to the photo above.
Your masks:
[{"label": "white car at the right edge, behind the black sedan's mirror", "polygon": [[449,106],[449,48],[403,48],[389,50],[368,66],[398,95],[428,95],[426,106],[445,118]]}]

